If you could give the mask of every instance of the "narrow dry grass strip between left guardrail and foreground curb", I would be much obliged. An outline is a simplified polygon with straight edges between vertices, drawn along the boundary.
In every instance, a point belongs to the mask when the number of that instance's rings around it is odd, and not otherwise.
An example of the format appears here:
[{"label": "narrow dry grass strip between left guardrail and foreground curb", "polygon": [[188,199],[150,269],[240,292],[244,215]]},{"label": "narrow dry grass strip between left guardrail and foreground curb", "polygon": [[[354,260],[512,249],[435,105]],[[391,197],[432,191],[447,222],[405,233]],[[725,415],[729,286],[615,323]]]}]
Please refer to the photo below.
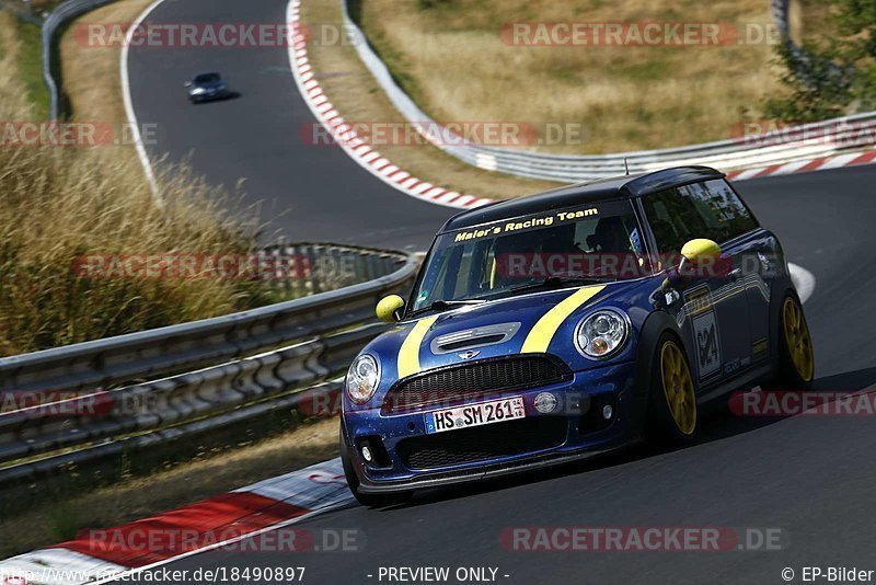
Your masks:
[{"label": "narrow dry grass strip between left guardrail and foreground curb", "polygon": [[337,418],[0,519],[0,558],[146,518],[337,456]]}]

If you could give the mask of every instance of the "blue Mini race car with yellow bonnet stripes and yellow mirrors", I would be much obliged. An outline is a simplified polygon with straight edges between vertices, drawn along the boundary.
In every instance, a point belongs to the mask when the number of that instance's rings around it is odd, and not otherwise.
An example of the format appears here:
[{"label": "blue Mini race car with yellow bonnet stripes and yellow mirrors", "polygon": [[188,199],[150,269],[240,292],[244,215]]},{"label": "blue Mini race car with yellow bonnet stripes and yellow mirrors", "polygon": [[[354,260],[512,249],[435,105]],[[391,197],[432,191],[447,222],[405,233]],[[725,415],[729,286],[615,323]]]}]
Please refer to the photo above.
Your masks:
[{"label": "blue Mini race car with yellow bonnet stripes and yellow mirrors", "polygon": [[341,451],[370,506],[416,489],[690,439],[736,389],[805,387],[782,248],[724,175],[670,169],[465,211],[349,368]]}]

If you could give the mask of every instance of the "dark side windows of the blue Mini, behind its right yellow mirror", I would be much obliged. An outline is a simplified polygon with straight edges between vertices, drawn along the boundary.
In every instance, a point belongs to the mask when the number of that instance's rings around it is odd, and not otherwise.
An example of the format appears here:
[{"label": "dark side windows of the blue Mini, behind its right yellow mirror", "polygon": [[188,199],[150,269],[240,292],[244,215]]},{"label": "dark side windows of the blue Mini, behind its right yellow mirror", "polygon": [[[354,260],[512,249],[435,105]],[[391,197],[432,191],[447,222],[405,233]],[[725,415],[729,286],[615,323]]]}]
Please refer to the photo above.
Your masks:
[{"label": "dark side windows of the blue Mini, behind its right yellow mirror", "polygon": [[662,253],[679,253],[694,238],[722,243],[758,227],[736,193],[721,179],[648,195],[643,203]]}]

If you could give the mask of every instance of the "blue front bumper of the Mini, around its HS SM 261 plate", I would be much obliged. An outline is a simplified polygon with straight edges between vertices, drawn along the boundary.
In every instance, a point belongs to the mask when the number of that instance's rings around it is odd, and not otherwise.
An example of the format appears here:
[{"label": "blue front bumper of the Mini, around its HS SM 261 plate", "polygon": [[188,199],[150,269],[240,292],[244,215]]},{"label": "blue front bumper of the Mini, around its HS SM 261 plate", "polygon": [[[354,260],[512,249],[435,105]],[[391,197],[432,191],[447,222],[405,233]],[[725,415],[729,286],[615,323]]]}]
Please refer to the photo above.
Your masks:
[{"label": "blue front bumper of the Mini, around its HS SM 261 plate", "polygon": [[[635,439],[638,429],[631,424],[635,394],[635,363],[614,364],[577,372],[569,381],[540,388],[497,394],[461,401],[449,406],[486,402],[494,398],[522,397],[526,408],[526,424],[548,423],[551,428],[564,428],[562,437],[557,435],[550,445],[533,441],[531,448],[521,440],[519,451],[503,445],[502,455],[476,457],[474,460],[442,463],[435,457],[419,458],[412,463],[411,445],[427,448],[430,441],[440,443],[442,449],[452,448],[454,437],[462,439],[470,429],[449,431],[439,434],[427,434],[424,413],[437,409],[429,408],[415,412],[395,415],[381,415],[380,409],[347,410],[342,424],[349,437],[350,462],[359,478],[359,491],[397,492],[422,487],[433,487],[450,483],[470,482],[488,479],[507,473],[560,464],[586,457],[592,457],[614,450]],[[542,392],[551,392],[558,399],[556,409],[550,414],[540,413],[535,406],[535,397]],[[613,415],[604,420],[601,415],[603,406],[611,405]],[[545,417],[551,417],[550,420]],[[482,433],[496,433],[493,443],[502,437],[506,429],[512,428],[517,422],[503,422],[473,427]],[[503,426],[505,425],[505,426]],[[474,432],[474,431],[471,431]],[[454,435],[457,434],[457,435]],[[512,434],[508,434],[512,437]],[[440,438],[438,438],[440,437]],[[519,439],[518,435],[518,439]],[[526,437],[523,437],[526,438]],[[385,449],[380,458],[366,463],[361,457],[362,445]],[[472,437],[469,437],[471,445]],[[508,440],[516,440],[509,438]],[[474,439],[474,445],[480,445]],[[425,447],[424,447],[425,446]],[[509,452],[514,451],[514,452]],[[377,462],[377,459],[381,459]],[[430,461],[423,464],[423,461]]]}]

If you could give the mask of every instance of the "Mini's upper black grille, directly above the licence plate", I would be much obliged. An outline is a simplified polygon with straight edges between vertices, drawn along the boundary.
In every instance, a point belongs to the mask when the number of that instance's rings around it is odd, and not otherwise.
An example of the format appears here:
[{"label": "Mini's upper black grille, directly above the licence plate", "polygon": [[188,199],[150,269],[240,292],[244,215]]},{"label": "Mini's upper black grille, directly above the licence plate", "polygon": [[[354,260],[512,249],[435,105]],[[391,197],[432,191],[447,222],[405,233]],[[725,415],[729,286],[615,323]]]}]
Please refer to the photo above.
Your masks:
[{"label": "Mini's upper black grille, directly above the licence plate", "polygon": [[538,388],[570,378],[572,372],[565,364],[544,354],[457,364],[400,380],[387,392],[381,412],[394,414],[447,405],[468,398]]}]

